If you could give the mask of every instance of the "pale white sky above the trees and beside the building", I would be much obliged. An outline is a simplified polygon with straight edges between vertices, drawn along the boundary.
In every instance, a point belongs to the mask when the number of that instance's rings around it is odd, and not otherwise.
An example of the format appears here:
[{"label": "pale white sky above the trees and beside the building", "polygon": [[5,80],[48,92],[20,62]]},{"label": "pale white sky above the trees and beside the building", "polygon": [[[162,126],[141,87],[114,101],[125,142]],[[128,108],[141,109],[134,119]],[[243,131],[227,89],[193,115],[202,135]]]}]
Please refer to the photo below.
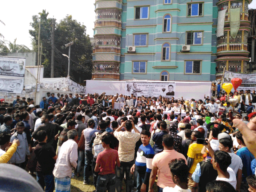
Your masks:
[{"label": "pale white sky above the trees and beside the building", "polygon": [[[93,37],[94,2],[94,0],[1,1],[0,20],[4,22],[5,26],[0,23],[0,33],[5,40],[13,42],[17,38],[16,44],[24,44],[31,49],[31,36],[28,30],[32,28],[29,23],[32,22],[32,15],[37,15],[46,9],[46,12],[49,12],[48,17],[54,17],[57,22],[67,14],[72,15],[73,19],[86,26],[86,34]],[[7,9],[7,7],[10,8]],[[256,0],[249,4],[249,8],[256,9]],[[63,44],[66,43],[68,42],[63,42]]]}]

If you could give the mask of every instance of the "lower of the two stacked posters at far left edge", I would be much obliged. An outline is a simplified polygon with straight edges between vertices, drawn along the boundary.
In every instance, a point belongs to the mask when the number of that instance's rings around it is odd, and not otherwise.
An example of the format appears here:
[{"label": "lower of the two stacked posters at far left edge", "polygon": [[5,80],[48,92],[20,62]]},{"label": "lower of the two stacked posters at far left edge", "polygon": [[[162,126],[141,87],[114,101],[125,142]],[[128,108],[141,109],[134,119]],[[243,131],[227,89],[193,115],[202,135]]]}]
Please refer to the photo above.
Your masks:
[{"label": "lower of the two stacked posters at far left edge", "polygon": [[0,78],[0,92],[21,93],[24,78]]}]

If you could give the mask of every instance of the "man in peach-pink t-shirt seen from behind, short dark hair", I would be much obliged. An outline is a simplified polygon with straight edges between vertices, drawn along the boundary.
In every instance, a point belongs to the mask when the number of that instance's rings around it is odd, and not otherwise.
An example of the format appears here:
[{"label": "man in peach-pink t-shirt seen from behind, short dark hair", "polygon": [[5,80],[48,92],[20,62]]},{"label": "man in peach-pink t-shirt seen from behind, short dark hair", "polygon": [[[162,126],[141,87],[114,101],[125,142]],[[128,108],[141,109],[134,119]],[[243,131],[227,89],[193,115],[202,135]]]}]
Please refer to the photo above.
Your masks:
[{"label": "man in peach-pink t-shirt seen from behind, short dark hair", "polygon": [[157,179],[158,192],[163,192],[165,187],[175,187],[176,184],[172,181],[172,176],[169,168],[169,163],[172,159],[184,159],[186,164],[187,160],[184,155],[178,153],[173,149],[174,139],[171,135],[166,134],[163,136],[164,151],[154,156],[152,161],[152,171],[149,178],[149,190],[148,192],[154,192],[153,185]]}]

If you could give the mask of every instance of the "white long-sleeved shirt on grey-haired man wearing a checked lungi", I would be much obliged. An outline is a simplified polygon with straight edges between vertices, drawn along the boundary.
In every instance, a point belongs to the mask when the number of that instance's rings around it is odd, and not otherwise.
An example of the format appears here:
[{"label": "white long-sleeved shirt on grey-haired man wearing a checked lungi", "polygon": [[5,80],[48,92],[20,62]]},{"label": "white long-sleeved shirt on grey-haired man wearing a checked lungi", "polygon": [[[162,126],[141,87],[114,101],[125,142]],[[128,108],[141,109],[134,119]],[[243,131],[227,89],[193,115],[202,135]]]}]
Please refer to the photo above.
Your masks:
[{"label": "white long-sleeved shirt on grey-haired man wearing a checked lungi", "polygon": [[60,153],[53,169],[53,175],[57,178],[72,176],[72,167],[77,166],[77,144],[73,139],[69,139],[61,145]]}]

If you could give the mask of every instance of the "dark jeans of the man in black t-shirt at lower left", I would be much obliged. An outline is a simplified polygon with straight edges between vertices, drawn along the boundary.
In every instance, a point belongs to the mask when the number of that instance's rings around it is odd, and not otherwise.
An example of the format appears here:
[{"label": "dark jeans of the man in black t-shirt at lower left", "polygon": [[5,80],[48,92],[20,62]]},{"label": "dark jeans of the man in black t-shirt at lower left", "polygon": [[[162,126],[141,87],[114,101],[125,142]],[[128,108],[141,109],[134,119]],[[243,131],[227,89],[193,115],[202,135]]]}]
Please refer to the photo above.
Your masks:
[{"label": "dark jeans of the man in black t-shirt at lower left", "polygon": [[53,192],[54,190],[54,176],[51,175],[42,175],[41,173],[36,172],[36,181],[41,185],[45,192]]}]

